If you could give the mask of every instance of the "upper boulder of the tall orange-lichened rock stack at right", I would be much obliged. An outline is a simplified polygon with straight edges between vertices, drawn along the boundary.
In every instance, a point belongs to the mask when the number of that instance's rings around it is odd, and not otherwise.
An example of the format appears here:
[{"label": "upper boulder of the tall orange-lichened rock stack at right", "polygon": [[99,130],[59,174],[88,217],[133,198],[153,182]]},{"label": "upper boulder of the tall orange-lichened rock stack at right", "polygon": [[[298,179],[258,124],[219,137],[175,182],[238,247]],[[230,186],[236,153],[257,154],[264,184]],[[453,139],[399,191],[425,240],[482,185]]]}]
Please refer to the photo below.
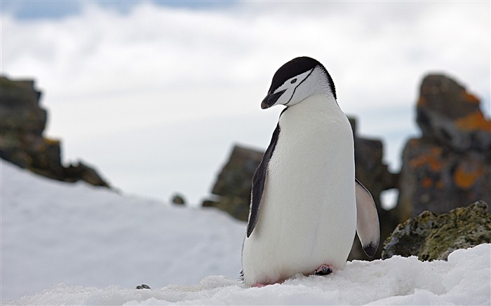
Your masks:
[{"label": "upper boulder of the tall orange-lichened rock stack at right", "polygon": [[453,151],[489,151],[491,121],[479,109],[479,99],[443,75],[426,76],[417,102],[417,124],[424,138]]}]

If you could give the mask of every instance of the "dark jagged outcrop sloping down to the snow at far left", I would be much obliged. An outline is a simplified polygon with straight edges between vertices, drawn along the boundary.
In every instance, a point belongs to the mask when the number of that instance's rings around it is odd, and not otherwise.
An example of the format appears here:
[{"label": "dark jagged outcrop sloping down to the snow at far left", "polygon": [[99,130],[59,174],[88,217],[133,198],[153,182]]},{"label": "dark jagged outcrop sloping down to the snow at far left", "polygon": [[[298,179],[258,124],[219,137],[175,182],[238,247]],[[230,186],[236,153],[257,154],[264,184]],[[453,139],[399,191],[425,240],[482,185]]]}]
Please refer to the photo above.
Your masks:
[{"label": "dark jagged outcrop sloping down to the snow at far left", "polygon": [[40,97],[34,81],[0,78],[0,158],[51,179],[109,186],[82,162],[62,165],[60,141],[43,137],[48,116],[39,106]]}]

